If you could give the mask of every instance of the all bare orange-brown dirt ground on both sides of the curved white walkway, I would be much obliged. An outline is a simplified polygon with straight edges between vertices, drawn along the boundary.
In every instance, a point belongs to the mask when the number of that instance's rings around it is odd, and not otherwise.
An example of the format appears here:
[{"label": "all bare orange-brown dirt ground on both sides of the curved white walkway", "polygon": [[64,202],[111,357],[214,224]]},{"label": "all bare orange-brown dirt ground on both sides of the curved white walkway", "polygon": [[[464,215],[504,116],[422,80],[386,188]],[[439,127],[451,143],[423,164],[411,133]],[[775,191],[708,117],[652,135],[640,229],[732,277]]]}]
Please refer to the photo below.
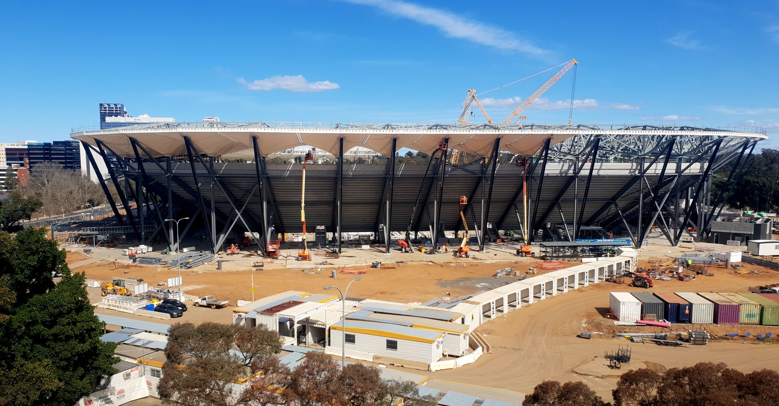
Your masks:
[{"label": "all bare orange-brown dirt ground on both sides of the curved white walkway", "polygon": [[[68,257],[70,264],[83,260],[84,256],[79,253],[71,253]],[[658,264],[662,265],[663,261],[668,262],[669,258],[643,261],[639,266],[654,268]],[[576,263],[566,264],[566,268],[574,264]],[[518,279],[492,277],[497,269],[512,267],[525,273],[531,266],[534,266],[534,263],[527,260],[481,264],[472,261],[442,264],[427,261],[384,263],[381,268],[368,268],[367,274],[360,275],[361,281],[351,285],[348,296],[404,303],[424,303],[443,296],[455,298]],[[200,268],[204,269],[200,271]],[[330,278],[330,271],[340,268],[323,268],[319,273],[310,269],[306,271],[292,268],[268,268],[264,271],[213,271],[205,268],[182,271],[183,290],[190,295],[214,295],[228,299],[232,305],[238,299],[252,299],[252,276],[256,299],[286,290],[323,293],[324,286],[343,287],[354,277],[337,273],[335,280]],[[650,292],[746,292],[749,286],[779,282],[777,271],[747,264],[744,269],[759,270],[762,274],[735,275],[724,268],[711,268],[713,277],[699,275],[690,282],[658,280]],[[87,278],[100,281],[110,280],[113,276],[143,278],[150,286],[178,275],[177,271],[167,268],[137,265],[120,265],[113,268],[112,264],[105,261],[83,265],[76,271],[84,271]],[[94,292],[90,292],[90,296],[97,295],[94,301],[99,300],[99,289],[92,291]],[[754,338],[714,340],[705,346],[686,345],[681,348],[634,344],[624,339],[611,338],[608,333],[618,330],[668,332],[659,327],[613,326],[604,315],[605,309],[608,309],[608,292],[615,291],[640,292],[644,289],[631,288],[627,283],[616,285],[604,282],[515,310],[479,327],[478,331],[484,334],[492,345],[492,353],[485,354],[478,362],[459,369],[427,374],[434,380],[471,383],[522,393],[530,393],[541,380],[581,380],[605,399],[611,399],[611,390],[616,385],[619,373],[644,366],[662,371],[711,361],[725,362],[728,366],[745,372],[763,368],[775,369],[777,366],[777,347],[772,343],[759,343]],[[96,311],[116,314],[111,310]],[[122,317],[136,316],[122,314]],[[191,306],[185,317],[171,320],[170,323],[199,323],[206,320],[229,323],[231,309],[194,309]],[[689,325],[673,327],[686,331]],[[706,329],[713,335],[747,331],[752,332],[753,336],[769,331],[774,333],[774,336],[779,335],[779,327],[708,325]],[[607,334],[584,340],[576,337],[581,330],[602,331]],[[605,352],[614,352],[620,345],[629,345],[633,350],[633,361],[623,364],[621,370],[608,369],[608,361],[603,355]]]}]

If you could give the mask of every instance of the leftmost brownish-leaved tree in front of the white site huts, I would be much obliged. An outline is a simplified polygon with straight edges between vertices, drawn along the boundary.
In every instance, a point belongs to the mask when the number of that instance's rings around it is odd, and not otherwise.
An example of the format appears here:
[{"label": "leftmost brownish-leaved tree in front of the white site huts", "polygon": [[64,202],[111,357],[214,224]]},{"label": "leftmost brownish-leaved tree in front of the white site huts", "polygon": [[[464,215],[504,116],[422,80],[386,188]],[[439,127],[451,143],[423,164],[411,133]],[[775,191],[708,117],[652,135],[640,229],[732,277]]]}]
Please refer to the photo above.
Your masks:
[{"label": "leftmost brownish-leaved tree in front of the white site huts", "polygon": [[251,377],[263,365],[271,365],[266,362],[281,348],[277,333],[263,332],[264,327],[249,330],[213,322],[199,326],[174,324],[168,332],[167,361],[157,387],[164,403],[241,404],[241,394],[233,390],[233,382]]}]

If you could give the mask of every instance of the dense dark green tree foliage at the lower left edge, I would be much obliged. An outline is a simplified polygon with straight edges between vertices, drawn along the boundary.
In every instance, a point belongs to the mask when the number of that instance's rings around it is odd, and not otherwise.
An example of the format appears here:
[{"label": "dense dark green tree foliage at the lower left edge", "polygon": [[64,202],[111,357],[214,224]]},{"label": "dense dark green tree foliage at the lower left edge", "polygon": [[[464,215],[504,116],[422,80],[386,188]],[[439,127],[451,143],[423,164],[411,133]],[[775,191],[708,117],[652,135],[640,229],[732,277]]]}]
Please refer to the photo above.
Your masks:
[{"label": "dense dark green tree foliage at the lower left edge", "polygon": [[[72,406],[115,372],[84,275],[70,274],[45,234],[0,232],[0,405]],[[52,271],[63,275],[56,285]]]}]

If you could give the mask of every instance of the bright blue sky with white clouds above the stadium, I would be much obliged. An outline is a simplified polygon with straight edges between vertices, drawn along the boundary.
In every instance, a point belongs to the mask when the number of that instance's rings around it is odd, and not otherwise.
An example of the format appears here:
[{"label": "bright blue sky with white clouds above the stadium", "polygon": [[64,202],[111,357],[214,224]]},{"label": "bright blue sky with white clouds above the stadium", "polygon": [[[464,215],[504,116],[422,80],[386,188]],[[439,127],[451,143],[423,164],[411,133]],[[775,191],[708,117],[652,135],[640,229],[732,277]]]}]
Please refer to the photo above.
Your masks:
[{"label": "bright blue sky with white clouds above the stadium", "polygon": [[[467,89],[571,58],[574,123],[779,138],[777,0],[9,2],[0,41],[0,142],[66,139],[98,124],[98,103],[176,121],[452,123]],[[502,121],[557,70],[479,97]],[[573,73],[526,123],[568,121]]]}]

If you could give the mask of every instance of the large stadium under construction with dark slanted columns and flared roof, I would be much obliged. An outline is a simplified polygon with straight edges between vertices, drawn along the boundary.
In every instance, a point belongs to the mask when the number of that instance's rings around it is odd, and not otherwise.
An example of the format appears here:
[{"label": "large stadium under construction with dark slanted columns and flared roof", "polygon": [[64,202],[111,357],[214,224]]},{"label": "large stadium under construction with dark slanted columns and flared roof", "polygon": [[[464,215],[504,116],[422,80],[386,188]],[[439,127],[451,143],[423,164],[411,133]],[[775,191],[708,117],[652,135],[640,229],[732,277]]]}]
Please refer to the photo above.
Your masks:
[{"label": "large stadium under construction with dark slanted columns and flared roof", "polygon": [[[707,240],[732,191],[712,193],[712,180],[735,184],[767,136],[614,124],[223,121],[76,130],[72,138],[106,175],[111,233],[141,243],[161,237],[176,249],[165,219],[189,217],[182,235],[206,236],[214,252],[247,232],[264,252],[278,234],[302,232],[304,190],[309,233],[323,230],[338,250],[347,233],[386,250],[399,236],[449,242],[464,219],[480,250],[507,231],[531,241],[626,237],[638,247],[657,227],[671,245]],[[386,159],[407,151],[425,159]]]}]

